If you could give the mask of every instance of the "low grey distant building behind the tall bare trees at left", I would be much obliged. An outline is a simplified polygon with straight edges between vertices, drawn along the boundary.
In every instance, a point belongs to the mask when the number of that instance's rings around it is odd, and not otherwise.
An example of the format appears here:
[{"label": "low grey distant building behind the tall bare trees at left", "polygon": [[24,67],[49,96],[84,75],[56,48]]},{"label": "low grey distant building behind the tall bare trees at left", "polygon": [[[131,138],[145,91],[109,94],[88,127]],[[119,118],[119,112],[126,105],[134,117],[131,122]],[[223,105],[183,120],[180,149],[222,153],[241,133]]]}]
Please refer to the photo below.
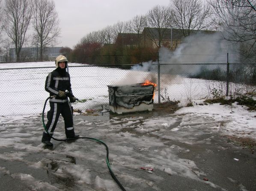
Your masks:
[{"label": "low grey distant building behind the tall bare trees at left", "polygon": [[[60,49],[63,47],[45,47],[43,50],[43,60],[54,60],[60,55]],[[21,48],[21,61],[37,61],[40,59],[40,48],[36,47],[24,47]],[[10,49],[10,58],[12,61],[16,61],[17,55],[15,48]]]}]

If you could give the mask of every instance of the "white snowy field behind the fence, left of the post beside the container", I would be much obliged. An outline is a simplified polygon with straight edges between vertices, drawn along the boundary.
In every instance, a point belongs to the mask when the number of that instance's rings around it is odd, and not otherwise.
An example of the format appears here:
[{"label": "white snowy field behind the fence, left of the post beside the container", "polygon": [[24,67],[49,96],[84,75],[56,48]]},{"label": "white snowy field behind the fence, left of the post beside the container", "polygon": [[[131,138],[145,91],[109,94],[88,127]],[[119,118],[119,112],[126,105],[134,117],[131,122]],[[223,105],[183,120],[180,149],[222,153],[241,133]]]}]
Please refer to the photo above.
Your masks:
[{"label": "white snowy field behind the fence, left of the post beside the container", "polygon": [[[143,82],[149,72],[129,71],[104,67],[72,67],[82,64],[69,63],[71,87],[74,96],[83,103],[73,104],[74,109],[85,110],[94,105],[108,105],[108,87],[116,83]],[[84,66],[84,64],[83,64]],[[45,67],[45,68],[32,68]],[[6,98],[0,102],[0,115],[26,115],[41,113],[49,93],[45,91],[45,79],[55,67],[53,61],[33,63],[0,64],[0,96]],[[9,69],[8,69],[9,68]],[[27,69],[11,69],[27,68]],[[29,69],[28,69],[29,68]],[[142,80],[143,79],[143,80]]]}]

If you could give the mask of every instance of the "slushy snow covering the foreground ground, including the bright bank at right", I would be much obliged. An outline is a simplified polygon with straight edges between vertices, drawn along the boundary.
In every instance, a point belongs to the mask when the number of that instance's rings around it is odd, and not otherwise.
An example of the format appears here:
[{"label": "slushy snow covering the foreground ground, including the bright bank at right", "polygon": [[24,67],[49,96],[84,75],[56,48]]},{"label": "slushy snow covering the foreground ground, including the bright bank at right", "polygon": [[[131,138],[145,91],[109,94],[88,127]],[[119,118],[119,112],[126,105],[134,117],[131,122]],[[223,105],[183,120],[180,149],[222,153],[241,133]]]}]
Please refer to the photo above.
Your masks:
[{"label": "slushy snow covering the foreground ground, including the bright bank at right", "polygon": [[[211,104],[183,107],[164,116],[150,116],[150,113],[112,117],[106,113],[105,116],[76,115],[74,126],[80,136],[94,137],[108,145],[111,168],[127,191],[161,191],[165,188],[164,182],[175,177],[194,181],[193,184],[209,191],[228,191],[230,186],[232,190],[253,191],[253,185],[250,182],[245,185],[237,173],[211,174],[199,167],[201,164],[195,161],[196,158],[192,160],[188,156],[194,155],[193,149],[200,145],[206,145],[206,148],[196,154],[198,159],[203,158],[203,153],[213,156],[227,153],[234,146],[216,145],[214,139],[220,135],[255,139],[255,116],[256,112],[248,112],[239,105]],[[0,123],[0,161],[19,163],[15,170],[1,162],[0,174],[35,191],[120,190],[107,172],[102,145],[84,139],[71,143],[53,140],[54,148],[45,148],[40,142],[41,116],[1,116]],[[65,138],[61,126],[62,119],[54,133],[57,138]],[[248,162],[239,150],[226,160],[238,160],[241,164]],[[223,157],[221,154],[220,160]],[[22,170],[24,167],[27,170]],[[153,171],[141,170],[141,167],[153,168]],[[212,177],[216,173],[220,173],[218,176],[226,179],[226,183]],[[204,181],[203,177],[210,180]],[[236,183],[233,184],[233,180]],[[65,181],[71,185],[66,185]]]}]

